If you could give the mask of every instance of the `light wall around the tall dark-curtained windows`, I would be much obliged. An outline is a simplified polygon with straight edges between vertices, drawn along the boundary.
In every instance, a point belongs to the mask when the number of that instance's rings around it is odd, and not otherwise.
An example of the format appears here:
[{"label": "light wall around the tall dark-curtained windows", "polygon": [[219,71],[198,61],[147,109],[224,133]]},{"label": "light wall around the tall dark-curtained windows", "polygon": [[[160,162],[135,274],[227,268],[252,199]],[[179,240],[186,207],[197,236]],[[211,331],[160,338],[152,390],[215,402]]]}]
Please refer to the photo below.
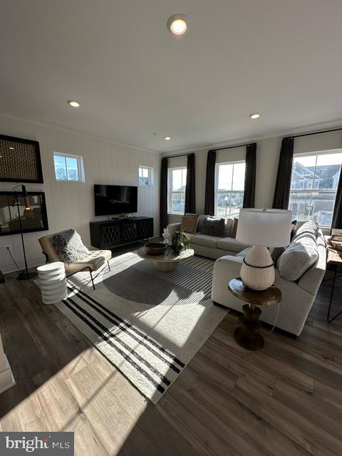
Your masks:
[{"label": "light wall around the tall dark-curtained windows", "polygon": [[[296,133],[297,134],[297,133]],[[278,170],[281,138],[264,138],[257,142],[257,182],[255,189],[256,207],[271,207],[274,195],[274,185]],[[249,140],[246,142],[254,142]],[[229,142],[227,142],[229,145]],[[314,152],[319,150],[339,149],[342,147],[342,131],[323,133],[320,135],[304,136],[294,140],[294,153]],[[210,147],[214,148],[214,147]],[[195,174],[196,174],[196,212],[204,213],[205,174],[207,167],[208,149],[195,150]],[[174,152],[174,155],[186,152]],[[190,152],[189,152],[190,153]],[[169,154],[171,155],[171,154]],[[165,153],[162,156],[167,157]],[[244,160],[245,147],[237,147],[217,152],[217,163]],[[177,161],[176,161],[177,160]],[[169,167],[186,166],[187,157],[170,158]],[[179,215],[170,215],[169,222],[179,222]]]}]

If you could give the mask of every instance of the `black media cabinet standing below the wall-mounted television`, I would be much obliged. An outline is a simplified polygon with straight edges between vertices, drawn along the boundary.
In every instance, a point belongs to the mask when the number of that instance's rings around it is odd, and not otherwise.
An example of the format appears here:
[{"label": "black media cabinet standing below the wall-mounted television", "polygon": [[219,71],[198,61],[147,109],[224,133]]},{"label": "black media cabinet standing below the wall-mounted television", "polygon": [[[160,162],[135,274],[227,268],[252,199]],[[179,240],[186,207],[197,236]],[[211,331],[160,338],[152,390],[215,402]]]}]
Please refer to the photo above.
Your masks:
[{"label": "black media cabinet standing below the wall-mounted television", "polygon": [[112,249],[118,245],[149,237],[153,237],[152,217],[90,222],[90,242],[98,249]]}]

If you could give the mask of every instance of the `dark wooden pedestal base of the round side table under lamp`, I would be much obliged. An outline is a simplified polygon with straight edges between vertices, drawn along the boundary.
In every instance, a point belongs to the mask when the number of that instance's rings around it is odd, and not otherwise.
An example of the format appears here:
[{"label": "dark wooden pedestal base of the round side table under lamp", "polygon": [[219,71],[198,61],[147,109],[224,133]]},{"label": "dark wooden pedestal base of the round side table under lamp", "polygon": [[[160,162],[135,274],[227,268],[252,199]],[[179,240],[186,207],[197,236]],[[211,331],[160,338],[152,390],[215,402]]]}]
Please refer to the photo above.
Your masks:
[{"label": "dark wooden pedestal base of the round side table under lamp", "polygon": [[240,326],[234,331],[234,339],[247,350],[260,350],[264,346],[264,338],[259,333],[261,310],[252,304],[244,304],[244,314],[240,316]]}]

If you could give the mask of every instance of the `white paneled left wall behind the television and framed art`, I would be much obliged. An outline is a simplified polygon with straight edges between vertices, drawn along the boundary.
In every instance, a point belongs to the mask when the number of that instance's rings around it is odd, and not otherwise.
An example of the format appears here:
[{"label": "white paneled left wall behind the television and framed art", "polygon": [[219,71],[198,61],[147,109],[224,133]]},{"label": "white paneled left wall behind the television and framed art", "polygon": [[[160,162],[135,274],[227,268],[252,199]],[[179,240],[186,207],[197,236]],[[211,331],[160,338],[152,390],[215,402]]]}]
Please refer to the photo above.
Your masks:
[{"label": "white paneled left wall behind the television and framed art", "polygon": [[[40,190],[46,194],[48,232],[76,229],[90,248],[89,222],[94,217],[93,184],[138,185],[138,166],[154,168],[153,187],[139,187],[138,215],[153,217],[155,234],[159,234],[159,175],[160,155],[96,140],[86,135],[50,126],[42,126],[0,116],[0,133],[19,138],[38,140],[41,149],[43,184],[26,184],[28,191]],[[86,182],[56,182],[53,171],[53,152],[66,152],[84,157]],[[19,184],[20,182],[18,182]],[[0,190],[11,190],[16,183],[0,182]],[[106,217],[97,217],[97,219]],[[26,256],[30,266],[44,261],[38,238],[48,232],[24,234]],[[20,267],[24,259],[19,234],[0,236],[0,269],[15,269],[5,245],[12,246],[14,258]]]}]

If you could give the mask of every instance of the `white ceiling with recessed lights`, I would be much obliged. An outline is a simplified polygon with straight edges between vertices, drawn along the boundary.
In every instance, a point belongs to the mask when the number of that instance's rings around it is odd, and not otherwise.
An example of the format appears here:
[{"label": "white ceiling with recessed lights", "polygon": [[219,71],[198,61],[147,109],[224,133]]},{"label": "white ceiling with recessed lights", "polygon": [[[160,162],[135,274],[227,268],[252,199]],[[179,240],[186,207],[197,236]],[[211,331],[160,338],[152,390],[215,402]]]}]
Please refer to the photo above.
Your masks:
[{"label": "white ceiling with recessed lights", "polygon": [[160,152],[342,118],[341,0],[0,5],[1,113]]}]

